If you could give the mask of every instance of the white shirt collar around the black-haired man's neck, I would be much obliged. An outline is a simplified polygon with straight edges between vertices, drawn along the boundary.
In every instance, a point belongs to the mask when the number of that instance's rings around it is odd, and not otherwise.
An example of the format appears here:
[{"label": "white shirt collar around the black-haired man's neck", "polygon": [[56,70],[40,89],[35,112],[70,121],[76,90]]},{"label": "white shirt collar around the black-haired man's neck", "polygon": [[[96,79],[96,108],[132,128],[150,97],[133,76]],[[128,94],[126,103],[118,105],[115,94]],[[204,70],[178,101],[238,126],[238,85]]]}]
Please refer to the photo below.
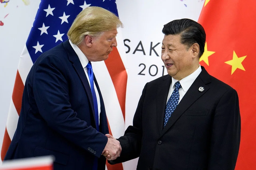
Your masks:
[{"label": "white shirt collar around the black-haired man's neck", "polygon": [[[198,69],[195,70],[192,74],[188,75],[187,77],[181,79],[179,81],[179,83],[181,83],[181,87],[182,89],[187,92],[187,90],[189,90],[190,86],[193,84],[193,82],[195,81],[195,79],[198,77],[198,75],[201,73],[202,71],[202,68],[201,66],[199,65]],[[174,78],[171,78],[171,88],[175,88],[174,84],[178,81],[178,80],[175,80]]]}]

